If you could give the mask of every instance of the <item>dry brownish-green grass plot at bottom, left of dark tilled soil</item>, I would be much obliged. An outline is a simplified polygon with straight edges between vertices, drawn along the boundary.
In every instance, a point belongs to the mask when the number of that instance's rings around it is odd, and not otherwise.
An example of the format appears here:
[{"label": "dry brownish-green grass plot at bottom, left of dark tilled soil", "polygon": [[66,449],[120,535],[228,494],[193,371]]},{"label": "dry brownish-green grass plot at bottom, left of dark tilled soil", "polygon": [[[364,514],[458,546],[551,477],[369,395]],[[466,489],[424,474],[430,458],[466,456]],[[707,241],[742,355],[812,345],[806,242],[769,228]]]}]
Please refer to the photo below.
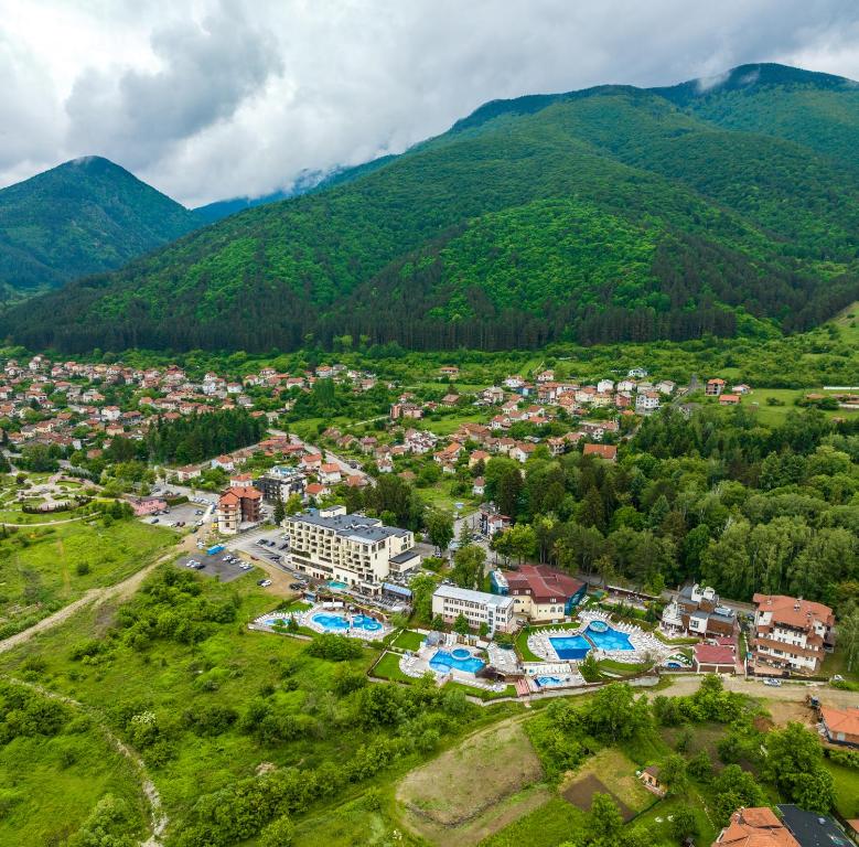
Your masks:
[{"label": "dry brownish-green grass plot at bottom, left of dark tilled soil", "polygon": [[466,738],[414,770],[397,790],[408,828],[443,847],[477,844],[548,797],[518,718]]}]

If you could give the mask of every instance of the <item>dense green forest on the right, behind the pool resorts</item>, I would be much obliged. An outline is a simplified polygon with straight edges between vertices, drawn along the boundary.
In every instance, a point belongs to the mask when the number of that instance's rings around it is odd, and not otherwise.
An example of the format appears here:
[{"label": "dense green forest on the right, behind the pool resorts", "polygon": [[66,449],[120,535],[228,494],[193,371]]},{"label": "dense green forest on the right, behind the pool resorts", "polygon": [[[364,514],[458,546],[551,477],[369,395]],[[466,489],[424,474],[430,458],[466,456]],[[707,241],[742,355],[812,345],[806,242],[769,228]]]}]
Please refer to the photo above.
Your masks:
[{"label": "dense green forest on the right, behind the pool resorts", "polygon": [[653,591],[686,581],[859,605],[859,426],[816,409],[765,427],[742,408],[646,419],[610,464],[580,453],[486,462],[486,494],[517,524],[494,542]]}]

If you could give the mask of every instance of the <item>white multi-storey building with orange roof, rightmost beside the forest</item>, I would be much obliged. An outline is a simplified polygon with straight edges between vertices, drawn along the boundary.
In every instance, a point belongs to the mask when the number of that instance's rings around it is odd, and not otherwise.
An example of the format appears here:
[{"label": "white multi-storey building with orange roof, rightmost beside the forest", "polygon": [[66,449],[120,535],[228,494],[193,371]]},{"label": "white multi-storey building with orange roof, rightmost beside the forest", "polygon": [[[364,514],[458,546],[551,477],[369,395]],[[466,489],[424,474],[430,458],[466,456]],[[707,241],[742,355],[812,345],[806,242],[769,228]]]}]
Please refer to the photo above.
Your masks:
[{"label": "white multi-storey building with orange roof, rightmost beside the forest", "polygon": [[814,674],[834,645],[835,615],[828,605],[784,594],[755,594],[755,664]]}]

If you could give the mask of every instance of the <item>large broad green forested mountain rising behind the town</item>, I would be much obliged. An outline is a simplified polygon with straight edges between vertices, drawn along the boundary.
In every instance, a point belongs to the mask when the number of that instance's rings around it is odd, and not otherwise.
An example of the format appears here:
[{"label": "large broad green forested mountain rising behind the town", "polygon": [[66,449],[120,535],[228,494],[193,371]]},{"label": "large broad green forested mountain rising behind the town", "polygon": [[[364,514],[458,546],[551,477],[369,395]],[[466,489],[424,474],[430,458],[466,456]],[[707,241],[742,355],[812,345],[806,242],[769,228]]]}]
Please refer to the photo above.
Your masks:
[{"label": "large broad green forested mountain rising behind the town", "polygon": [[848,81],[754,67],[486,104],[402,156],[11,309],[0,336],[505,349],[813,325],[859,298],[859,105]]}]

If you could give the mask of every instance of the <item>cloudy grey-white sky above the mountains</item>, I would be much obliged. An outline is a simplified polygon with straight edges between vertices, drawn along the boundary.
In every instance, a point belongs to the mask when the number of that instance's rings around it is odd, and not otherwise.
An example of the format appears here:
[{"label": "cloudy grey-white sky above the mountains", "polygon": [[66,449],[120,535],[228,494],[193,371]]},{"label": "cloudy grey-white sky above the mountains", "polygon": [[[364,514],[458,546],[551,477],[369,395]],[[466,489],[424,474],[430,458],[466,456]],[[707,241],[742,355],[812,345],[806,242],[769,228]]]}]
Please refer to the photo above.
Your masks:
[{"label": "cloudy grey-white sky above the mountains", "polygon": [[858,0],[0,0],[0,186],[104,156],[187,206],[486,100],[749,62],[859,79]]}]

